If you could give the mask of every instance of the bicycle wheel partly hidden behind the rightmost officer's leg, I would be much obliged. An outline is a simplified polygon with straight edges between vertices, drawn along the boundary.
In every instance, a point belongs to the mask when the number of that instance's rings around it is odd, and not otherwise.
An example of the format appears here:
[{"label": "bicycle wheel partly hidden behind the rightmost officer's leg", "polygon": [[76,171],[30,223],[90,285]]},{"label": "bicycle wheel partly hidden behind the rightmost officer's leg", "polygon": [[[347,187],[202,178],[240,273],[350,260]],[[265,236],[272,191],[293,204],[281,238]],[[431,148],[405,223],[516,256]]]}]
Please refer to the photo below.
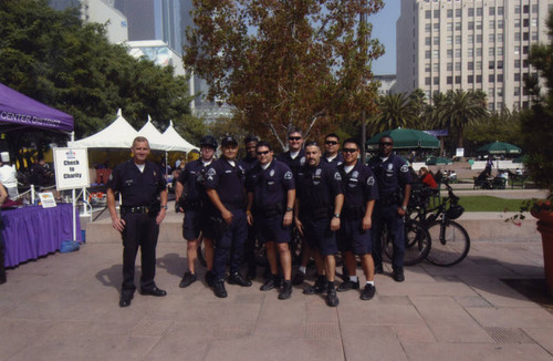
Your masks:
[{"label": "bicycle wheel partly hidden behind the rightmost officer's leg", "polygon": [[[431,237],[428,231],[420,227],[418,221],[408,220],[405,223],[405,266],[414,266],[424,261],[431,250]],[[389,260],[393,260],[394,240],[387,230],[384,231],[384,252]]]}]

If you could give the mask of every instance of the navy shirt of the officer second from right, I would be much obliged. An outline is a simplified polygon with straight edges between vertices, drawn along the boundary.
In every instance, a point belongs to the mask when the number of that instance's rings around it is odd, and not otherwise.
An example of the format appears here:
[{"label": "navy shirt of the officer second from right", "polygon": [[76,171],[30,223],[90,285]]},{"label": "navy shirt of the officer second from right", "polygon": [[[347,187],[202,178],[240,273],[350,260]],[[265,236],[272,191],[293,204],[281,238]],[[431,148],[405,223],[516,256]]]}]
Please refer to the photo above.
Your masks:
[{"label": "navy shirt of the officer second from right", "polygon": [[364,207],[368,200],[378,199],[378,186],[373,171],[357,161],[349,173],[345,164],[338,166],[344,187],[344,207]]}]

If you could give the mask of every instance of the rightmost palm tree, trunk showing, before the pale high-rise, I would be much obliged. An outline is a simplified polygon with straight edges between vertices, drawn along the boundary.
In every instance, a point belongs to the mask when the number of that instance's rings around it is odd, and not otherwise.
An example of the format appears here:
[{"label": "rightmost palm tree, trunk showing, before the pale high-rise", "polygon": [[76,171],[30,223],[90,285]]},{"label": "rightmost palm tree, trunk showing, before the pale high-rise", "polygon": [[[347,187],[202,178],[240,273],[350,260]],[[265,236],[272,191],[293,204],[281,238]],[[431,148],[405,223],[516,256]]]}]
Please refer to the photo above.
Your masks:
[{"label": "rightmost palm tree, trunk showing, before the pale high-rise", "polygon": [[449,91],[446,95],[432,97],[431,120],[434,125],[457,130],[457,147],[463,147],[463,131],[469,124],[477,124],[488,116],[486,93],[482,91]]}]

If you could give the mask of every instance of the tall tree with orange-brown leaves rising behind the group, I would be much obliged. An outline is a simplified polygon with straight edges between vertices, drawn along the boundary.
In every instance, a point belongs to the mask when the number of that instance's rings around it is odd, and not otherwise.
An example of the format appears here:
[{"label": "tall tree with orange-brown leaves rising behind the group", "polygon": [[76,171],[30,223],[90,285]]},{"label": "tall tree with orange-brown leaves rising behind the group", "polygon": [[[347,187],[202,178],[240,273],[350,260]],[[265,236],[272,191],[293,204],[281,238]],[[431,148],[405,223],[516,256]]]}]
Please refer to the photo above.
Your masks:
[{"label": "tall tree with orange-brown leaves rising behind the group", "polygon": [[[234,121],[286,147],[298,126],[319,137],[374,112],[371,61],[383,53],[359,14],[382,0],[194,0],[185,63]],[[316,124],[316,126],[315,126]]]}]

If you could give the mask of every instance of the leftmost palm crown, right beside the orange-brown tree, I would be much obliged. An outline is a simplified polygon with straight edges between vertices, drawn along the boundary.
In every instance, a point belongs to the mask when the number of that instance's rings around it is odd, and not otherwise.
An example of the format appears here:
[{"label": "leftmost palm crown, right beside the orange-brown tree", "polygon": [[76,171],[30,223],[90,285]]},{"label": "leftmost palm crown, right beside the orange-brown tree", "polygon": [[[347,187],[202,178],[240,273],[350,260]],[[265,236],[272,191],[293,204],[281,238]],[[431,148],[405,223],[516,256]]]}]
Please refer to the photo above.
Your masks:
[{"label": "leftmost palm crown, right beside the orange-brown tree", "polygon": [[379,113],[368,121],[372,131],[379,133],[416,124],[418,109],[405,93],[383,95],[377,103]]}]

